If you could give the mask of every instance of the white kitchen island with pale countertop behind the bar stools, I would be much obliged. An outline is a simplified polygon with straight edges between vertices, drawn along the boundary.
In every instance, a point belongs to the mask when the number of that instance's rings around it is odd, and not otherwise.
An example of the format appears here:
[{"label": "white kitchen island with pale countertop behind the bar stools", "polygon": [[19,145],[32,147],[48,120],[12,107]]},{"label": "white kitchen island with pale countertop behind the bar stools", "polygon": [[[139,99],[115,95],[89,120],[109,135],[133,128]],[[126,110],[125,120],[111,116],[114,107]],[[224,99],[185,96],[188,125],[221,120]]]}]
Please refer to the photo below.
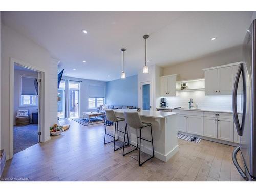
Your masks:
[{"label": "white kitchen island with pale countertop behind the bar stools", "polygon": [[[134,109],[116,109],[114,110],[117,117],[124,118],[123,113],[137,112]],[[141,110],[139,116],[142,122],[152,124],[153,143],[155,157],[164,162],[168,161],[178,151],[177,139],[177,114],[173,112],[160,112]],[[119,130],[124,132],[125,121],[118,123]],[[136,129],[128,126],[129,142],[136,145]],[[142,138],[151,140],[150,128],[142,129]],[[127,137],[126,137],[127,138]],[[119,134],[119,139],[123,141],[123,134]],[[152,155],[151,143],[141,141],[141,151]]]}]

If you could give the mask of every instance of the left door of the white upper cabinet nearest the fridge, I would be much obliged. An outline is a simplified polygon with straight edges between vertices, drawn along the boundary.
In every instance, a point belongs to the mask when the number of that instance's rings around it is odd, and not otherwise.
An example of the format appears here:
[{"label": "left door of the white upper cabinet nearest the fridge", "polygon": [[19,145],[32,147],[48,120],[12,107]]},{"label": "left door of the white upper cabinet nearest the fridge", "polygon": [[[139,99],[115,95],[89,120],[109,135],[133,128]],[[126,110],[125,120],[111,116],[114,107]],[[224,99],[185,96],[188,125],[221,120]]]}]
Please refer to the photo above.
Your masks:
[{"label": "left door of the white upper cabinet nearest the fridge", "polygon": [[205,94],[218,94],[218,69],[210,69],[204,71],[205,78]]}]

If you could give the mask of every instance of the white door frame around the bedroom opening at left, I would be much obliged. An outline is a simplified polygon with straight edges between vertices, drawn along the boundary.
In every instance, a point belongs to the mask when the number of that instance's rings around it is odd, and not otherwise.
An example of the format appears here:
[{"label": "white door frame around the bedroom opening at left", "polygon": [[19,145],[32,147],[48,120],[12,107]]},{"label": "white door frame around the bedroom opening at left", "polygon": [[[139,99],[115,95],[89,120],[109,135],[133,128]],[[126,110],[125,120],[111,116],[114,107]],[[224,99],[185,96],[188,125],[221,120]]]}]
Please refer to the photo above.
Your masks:
[{"label": "white door frame around the bedroom opening at left", "polygon": [[[24,61],[20,61],[14,58],[10,57],[10,122],[9,122],[9,159],[13,157],[13,94],[14,94],[14,64],[20,65],[25,68],[29,68],[32,70],[35,70],[39,73],[41,73],[41,94],[40,94],[40,100],[41,100],[41,113],[40,113],[40,123],[41,123],[41,138],[44,138],[45,133],[44,129],[42,129],[44,126],[45,122],[45,70],[37,67],[30,65]],[[39,82],[38,82],[39,83]]]}]

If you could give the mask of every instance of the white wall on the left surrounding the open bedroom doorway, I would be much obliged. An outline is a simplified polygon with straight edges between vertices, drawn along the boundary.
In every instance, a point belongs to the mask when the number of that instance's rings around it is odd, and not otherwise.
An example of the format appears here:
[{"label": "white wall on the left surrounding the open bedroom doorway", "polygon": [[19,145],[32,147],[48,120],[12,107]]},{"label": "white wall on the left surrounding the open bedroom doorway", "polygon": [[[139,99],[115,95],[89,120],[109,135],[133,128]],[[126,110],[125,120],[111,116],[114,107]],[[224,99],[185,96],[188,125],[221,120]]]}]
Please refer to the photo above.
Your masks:
[{"label": "white wall on the left surrounding the open bedroom doorway", "polygon": [[[10,121],[10,57],[29,63],[45,72],[45,134],[42,141],[50,139],[49,127],[57,122],[57,62],[53,62],[46,49],[2,23],[1,26],[1,147],[9,158]],[[56,84],[55,84],[56,83]]]}]

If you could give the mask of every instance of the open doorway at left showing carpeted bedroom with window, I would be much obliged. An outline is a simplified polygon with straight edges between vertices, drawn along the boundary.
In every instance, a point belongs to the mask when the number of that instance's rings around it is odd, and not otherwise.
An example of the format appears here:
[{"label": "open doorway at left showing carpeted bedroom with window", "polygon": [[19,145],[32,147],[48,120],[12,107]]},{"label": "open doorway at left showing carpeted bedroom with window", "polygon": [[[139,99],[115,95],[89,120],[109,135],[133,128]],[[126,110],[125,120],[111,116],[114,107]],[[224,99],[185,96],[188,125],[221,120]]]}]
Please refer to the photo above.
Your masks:
[{"label": "open doorway at left showing carpeted bedroom with window", "polygon": [[10,159],[44,137],[44,74],[37,67],[10,58]]}]

